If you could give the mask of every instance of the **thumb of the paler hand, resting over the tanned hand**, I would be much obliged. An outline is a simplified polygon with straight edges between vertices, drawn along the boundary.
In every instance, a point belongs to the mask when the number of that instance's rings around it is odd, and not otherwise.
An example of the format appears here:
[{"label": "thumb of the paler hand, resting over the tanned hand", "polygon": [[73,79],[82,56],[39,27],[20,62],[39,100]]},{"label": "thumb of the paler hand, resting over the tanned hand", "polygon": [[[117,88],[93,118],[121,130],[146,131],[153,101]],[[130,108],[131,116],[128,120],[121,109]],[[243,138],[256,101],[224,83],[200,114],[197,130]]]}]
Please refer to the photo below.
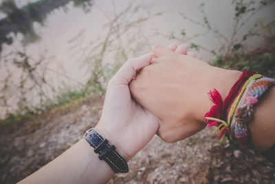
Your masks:
[{"label": "thumb of the paler hand, resting over the tanned hand", "polygon": [[120,70],[116,72],[113,78],[110,80],[110,83],[115,85],[128,85],[138,70],[141,70],[146,65],[149,65],[152,60],[152,54],[148,53],[142,57],[137,57],[129,59],[122,65]]}]

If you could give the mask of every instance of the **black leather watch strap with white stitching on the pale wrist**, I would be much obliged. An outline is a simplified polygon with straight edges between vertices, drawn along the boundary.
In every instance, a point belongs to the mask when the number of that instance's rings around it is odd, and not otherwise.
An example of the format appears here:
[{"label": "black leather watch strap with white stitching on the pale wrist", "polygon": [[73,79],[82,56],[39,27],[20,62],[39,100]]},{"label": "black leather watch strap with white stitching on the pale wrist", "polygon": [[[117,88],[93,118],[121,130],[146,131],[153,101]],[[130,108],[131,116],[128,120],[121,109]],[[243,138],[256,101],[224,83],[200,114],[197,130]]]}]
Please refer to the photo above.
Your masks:
[{"label": "black leather watch strap with white stitching on the pale wrist", "polygon": [[126,161],[115,152],[115,146],[109,145],[107,139],[103,139],[94,128],[87,130],[84,139],[94,147],[94,152],[99,154],[100,160],[106,161],[114,172],[128,172]]}]

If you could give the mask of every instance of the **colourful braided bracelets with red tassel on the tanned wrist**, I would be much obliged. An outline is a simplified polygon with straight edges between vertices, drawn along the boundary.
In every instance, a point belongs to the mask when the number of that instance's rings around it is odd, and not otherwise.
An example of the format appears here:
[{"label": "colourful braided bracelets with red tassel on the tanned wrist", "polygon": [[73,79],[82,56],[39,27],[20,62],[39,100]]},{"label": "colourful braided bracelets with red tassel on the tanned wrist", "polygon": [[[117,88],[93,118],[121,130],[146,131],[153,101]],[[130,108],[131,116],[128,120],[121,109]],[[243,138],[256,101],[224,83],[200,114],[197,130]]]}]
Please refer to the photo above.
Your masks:
[{"label": "colourful braided bracelets with red tassel on the tanned wrist", "polygon": [[221,101],[217,90],[210,91],[210,100],[214,105],[205,119],[209,127],[217,126],[220,132],[218,139],[223,141],[228,137],[240,145],[251,147],[248,123],[252,121],[254,105],[272,85],[275,85],[275,79],[244,71],[224,101]]}]

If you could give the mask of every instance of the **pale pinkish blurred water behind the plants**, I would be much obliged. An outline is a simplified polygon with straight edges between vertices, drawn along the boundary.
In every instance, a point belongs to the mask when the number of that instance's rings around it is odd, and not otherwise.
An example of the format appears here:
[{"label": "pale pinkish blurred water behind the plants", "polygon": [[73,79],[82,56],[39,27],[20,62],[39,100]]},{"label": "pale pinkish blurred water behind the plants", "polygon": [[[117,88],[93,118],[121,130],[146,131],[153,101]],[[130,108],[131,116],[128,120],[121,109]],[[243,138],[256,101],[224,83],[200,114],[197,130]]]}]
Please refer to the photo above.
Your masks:
[{"label": "pale pinkish blurred water behind the plants", "polygon": [[[17,1],[20,6],[28,2],[30,1]],[[83,9],[76,8],[73,3],[69,3],[65,9],[60,8],[51,12],[47,16],[44,25],[33,24],[34,31],[41,37],[39,41],[23,46],[21,43],[24,39],[23,34],[11,34],[11,37],[14,37],[14,43],[12,45],[4,44],[1,55],[8,54],[13,50],[24,50],[34,59],[47,58],[46,60],[49,62],[47,68],[50,68],[50,70],[46,72],[45,77],[48,81],[51,81],[56,89],[64,83],[73,86],[79,85],[79,83],[85,84],[89,76],[87,75],[87,67],[83,64],[83,54],[85,53],[80,52],[80,50],[93,48],[94,45],[104,40],[109,29],[106,24],[114,19],[115,14],[118,15],[123,12],[130,3],[133,3],[133,9],[140,4],[142,4],[142,7],[137,9],[136,12],[130,11],[127,13],[121,22],[131,22],[137,19],[147,20],[135,23],[131,29],[117,38],[118,40],[104,54],[106,63],[115,62],[116,48],[124,48],[126,57],[135,57],[149,52],[151,46],[156,43],[168,45],[171,42],[181,43],[186,41],[188,44],[203,45],[208,50],[221,46],[214,34],[206,32],[205,28],[183,19],[180,15],[180,13],[184,13],[187,17],[203,22],[203,14],[198,8],[202,2],[199,0],[96,0],[90,12],[84,12]],[[234,18],[234,7],[231,6],[231,1],[207,1],[205,10],[212,26],[217,28],[225,37],[230,38]],[[274,10],[275,7],[270,6],[265,11],[259,12],[240,32],[248,32],[256,22],[261,20],[273,19],[275,17]],[[159,12],[162,14],[158,14]],[[3,14],[1,14],[1,17],[4,17]],[[182,30],[186,32],[186,36],[181,34]],[[190,39],[198,33],[204,34],[201,37]],[[77,39],[72,41],[77,35]],[[261,43],[261,39],[253,39],[250,42],[250,49],[253,49]],[[203,61],[213,59],[212,54],[205,50],[196,51],[196,54]],[[14,81],[14,88],[11,90],[11,92],[14,92],[14,99],[11,98],[9,101],[11,110],[16,105],[12,105],[12,103],[17,101],[16,83],[21,75],[17,72],[17,68],[12,65],[8,67],[12,70]],[[0,65],[1,79],[7,74],[3,65]],[[32,92],[30,94],[34,99],[34,103],[37,101],[35,100],[36,93]],[[1,111],[5,112],[5,110]]]}]

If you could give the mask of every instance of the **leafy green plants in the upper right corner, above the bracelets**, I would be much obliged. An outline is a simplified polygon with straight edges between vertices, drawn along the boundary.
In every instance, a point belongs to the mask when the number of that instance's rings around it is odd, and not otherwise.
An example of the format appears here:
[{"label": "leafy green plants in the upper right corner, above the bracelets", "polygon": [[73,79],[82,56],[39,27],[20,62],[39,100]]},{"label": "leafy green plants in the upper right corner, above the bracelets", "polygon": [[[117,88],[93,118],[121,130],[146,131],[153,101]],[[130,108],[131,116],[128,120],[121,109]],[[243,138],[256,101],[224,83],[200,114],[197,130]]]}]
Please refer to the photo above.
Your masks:
[{"label": "leafy green plants in the upper right corner, above the bracelets", "polygon": [[[232,1],[232,7],[234,7],[234,21],[232,24],[231,37],[225,37],[225,35],[214,28],[210,23],[206,10],[204,8],[205,3],[201,3],[199,10],[203,15],[203,21],[197,21],[190,17],[186,17],[185,14],[181,16],[206,29],[206,32],[195,34],[194,37],[201,37],[204,34],[210,32],[217,38],[219,46],[216,50],[208,50],[207,46],[198,45],[195,43],[190,44],[190,48],[195,50],[205,50],[214,55],[214,59],[211,62],[212,65],[235,70],[255,70],[265,76],[275,76],[275,19],[259,21],[254,23],[254,26],[245,33],[242,29],[248,25],[248,22],[259,14],[259,12],[269,8],[275,3],[274,0],[261,0],[261,1]],[[181,35],[186,37],[185,30],[181,31]],[[254,50],[248,50],[250,40],[257,37],[263,40],[263,44],[257,46]]]}]

